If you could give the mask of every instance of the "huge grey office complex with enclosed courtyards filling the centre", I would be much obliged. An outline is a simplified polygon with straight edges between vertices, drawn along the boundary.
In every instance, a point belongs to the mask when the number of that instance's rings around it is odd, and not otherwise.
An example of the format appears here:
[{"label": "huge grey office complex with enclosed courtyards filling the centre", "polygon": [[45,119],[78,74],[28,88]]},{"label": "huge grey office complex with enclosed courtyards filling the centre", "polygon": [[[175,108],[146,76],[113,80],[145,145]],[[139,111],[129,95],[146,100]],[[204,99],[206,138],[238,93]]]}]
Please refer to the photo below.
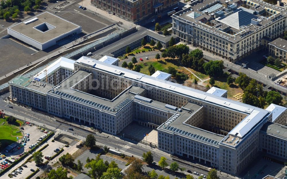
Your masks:
[{"label": "huge grey office complex with enclosed courtyards filling the centre", "polygon": [[[62,60],[52,69],[71,68]],[[166,73],[149,76],[111,63],[83,56],[58,84],[43,82],[49,75],[16,77],[9,82],[11,99],[111,134],[137,121],[158,130],[159,150],[229,174],[244,170],[260,152],[287,160],[287,129],[273,123],[286,124],[285,110],[264,110],[226,99],[218,88],[199,91],[170,82]]]}]

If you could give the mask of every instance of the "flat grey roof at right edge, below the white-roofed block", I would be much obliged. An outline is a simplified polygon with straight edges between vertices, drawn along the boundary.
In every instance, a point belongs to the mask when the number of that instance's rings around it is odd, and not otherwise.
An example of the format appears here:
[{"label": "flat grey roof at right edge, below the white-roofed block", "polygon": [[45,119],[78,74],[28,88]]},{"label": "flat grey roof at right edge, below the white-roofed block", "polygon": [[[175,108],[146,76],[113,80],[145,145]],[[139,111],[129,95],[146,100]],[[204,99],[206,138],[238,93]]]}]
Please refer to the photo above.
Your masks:
[{"label": "flat grey roof at right edge, below the white-roofed block", "polygon": [[284,125],[267,122],[260,129],[263,133],[272,134],[278,138],[287,139],[287,127]]}]

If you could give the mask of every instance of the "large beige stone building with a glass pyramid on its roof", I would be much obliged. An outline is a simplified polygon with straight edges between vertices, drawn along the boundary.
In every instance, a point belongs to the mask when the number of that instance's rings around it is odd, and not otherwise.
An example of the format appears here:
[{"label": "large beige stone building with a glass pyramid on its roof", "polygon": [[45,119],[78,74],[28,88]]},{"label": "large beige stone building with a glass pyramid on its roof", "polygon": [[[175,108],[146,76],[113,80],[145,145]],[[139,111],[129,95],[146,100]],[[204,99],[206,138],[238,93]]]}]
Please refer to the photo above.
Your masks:
[{"label": "large beige stone building with a glass pyramid on its roof", "polygon": [[172,15],[172,32],[192,44],[236,62],[266,48],[286,29],[284,9],[261,0],[195,0]]}]

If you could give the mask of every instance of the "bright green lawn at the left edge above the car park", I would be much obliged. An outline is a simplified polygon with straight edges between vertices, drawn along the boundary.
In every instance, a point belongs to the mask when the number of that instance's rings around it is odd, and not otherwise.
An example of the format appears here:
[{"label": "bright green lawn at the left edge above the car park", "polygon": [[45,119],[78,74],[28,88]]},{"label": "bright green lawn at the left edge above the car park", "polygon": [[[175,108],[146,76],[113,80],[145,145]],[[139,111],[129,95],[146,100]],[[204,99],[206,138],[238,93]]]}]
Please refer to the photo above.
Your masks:
[{"label": "bright green lawn at the left edge above the car park", "polygon": [[17,141],[17,136],[19,137],[19,141],[22,138],[22,132],[16,133],[16,131],[20,131],[19,127],[19,123],[21,123],[21,125],[23,124],[22,121],[16,121],[15,124],[8,124],[5,123],[4,125],[2,125],[2,123],[4,122],[5,119],[0,118],[0,128],[1,128],[1,135],[0,135],[0,142],[2,143],[0,150],[2,150],[3,148],[5,148],[7,145]]}]

